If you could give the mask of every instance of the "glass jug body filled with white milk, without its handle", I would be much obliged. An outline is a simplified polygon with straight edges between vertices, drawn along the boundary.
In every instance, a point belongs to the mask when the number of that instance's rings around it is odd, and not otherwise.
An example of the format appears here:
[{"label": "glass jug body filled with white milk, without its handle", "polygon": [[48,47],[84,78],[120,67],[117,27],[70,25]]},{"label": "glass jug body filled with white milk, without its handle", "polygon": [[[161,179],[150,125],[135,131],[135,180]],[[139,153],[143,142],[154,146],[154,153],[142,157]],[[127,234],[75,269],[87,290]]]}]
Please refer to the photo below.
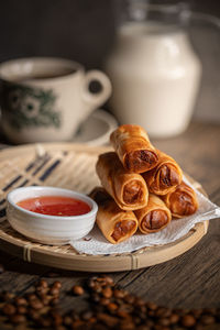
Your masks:
[{"label": "glass jug body filled with white milk, without its handle", "polygon": [[184,26],[187,13],[178,4],[133,1],[106,63],[111,111],[120,123],[140,124],[153,138],[184,132],[195,107],[201,64]]}]

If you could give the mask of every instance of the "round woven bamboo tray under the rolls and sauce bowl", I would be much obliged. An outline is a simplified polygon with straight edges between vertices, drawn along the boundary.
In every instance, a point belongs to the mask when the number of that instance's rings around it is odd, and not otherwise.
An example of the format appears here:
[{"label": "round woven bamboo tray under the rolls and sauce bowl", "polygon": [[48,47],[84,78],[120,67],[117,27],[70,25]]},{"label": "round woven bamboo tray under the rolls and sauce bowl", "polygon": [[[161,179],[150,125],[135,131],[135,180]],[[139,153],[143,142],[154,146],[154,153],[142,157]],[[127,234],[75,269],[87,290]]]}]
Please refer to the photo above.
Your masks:
[{"label": "round woven bamboo tray under the rolls and sauce bowl", "polygon": [[[30,241],[14,231],[6,217],[7,194],[31,185],[57,186],[88,194],[98,183],[95,164],[107,147],[73,143],[45,143],[0,151],[0,249],[28,262],[82,272],[138,270],[174,258],[191,249],[206,234],[208,221],[197,223],[180,240],[162,246],[117,255],[78,254],[70,245],[51,246]],[[194,186],[206,194],[200,184]]]}]

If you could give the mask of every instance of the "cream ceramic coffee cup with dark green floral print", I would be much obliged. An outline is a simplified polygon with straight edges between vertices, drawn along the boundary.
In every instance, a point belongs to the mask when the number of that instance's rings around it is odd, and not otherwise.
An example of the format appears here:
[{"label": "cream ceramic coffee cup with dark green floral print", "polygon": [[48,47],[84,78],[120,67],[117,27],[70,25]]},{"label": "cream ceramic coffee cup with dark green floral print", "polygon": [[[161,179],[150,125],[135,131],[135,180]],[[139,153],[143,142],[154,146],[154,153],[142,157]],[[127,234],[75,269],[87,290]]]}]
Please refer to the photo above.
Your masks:
[{"label": "cream ceramic coffee cup with dark green floral print", "polygon": [[[13,59],[0,65],[1,125],[13,143],[69,141],[79,124],[111,94],[100,70],[85,73],[73,61]],[[98,92],[89,86],[98,81]]]}]

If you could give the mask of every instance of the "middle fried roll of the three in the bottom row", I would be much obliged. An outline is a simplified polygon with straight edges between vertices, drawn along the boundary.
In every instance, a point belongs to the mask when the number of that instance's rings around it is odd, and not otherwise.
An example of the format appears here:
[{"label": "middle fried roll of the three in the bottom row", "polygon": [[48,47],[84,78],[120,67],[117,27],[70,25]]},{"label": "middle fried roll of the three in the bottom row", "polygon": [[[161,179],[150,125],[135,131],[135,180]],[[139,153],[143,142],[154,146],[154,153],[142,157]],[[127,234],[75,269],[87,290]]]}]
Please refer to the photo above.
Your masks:
[{"label": "middle fried roll of the three in the bottom row", "polygon": [[148,195],[148,204],[143,209],[134,211],[139,229],[143,233],[157,232],[172,220],[172,213],[164,201],[156,195]]}]

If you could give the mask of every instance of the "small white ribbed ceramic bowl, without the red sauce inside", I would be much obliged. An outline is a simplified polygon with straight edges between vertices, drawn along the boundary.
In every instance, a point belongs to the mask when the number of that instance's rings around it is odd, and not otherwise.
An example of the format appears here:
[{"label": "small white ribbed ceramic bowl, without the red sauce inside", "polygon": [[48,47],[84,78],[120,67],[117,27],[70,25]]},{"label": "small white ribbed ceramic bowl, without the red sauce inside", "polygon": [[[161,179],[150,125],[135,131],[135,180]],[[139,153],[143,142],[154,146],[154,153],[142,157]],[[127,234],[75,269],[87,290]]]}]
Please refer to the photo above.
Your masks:
[{"label": "small white ribbed ceramic bowl, without the red sauce inside", "polygon": [[[57,217],[29,211],[16,204],[40,196],[64,196],[87,202],[91,210],[81,216]],[[84,194],[55,187],[25,187],[8,194],[7,217],[11,227],[23,235],[46,244],[67,244],[92,229],[98,211],[97,204]]]}]

